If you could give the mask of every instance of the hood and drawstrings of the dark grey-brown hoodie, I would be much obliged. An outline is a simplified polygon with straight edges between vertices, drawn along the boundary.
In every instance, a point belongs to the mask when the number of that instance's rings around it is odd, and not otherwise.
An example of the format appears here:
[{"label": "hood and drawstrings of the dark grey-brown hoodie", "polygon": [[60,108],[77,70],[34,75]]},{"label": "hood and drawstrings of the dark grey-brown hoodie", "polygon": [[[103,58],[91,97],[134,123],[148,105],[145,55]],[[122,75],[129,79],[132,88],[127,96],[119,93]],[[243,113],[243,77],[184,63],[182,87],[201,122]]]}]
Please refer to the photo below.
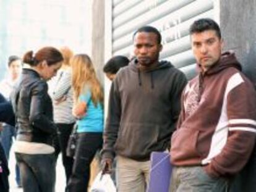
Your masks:
[{"label": "hood and drawstrings of the dark grey-brown hoodie", "polygon": [[153,77],[154,73],[157,70],[171,68],[171,67],[173,67],[173,65],[169,61],[160,61],[160,62],[158,62],[158,64],[155,67],[152,67],[152,68],[146,69],[146,70],[141,70],[139,68],[138,60],[134,59],[131,62],[131,64],[129,65],[129,67],[130,67],[131,70],[133,70],[134,72],[138,73],[138,83],[139,83],[140,86],[142,86],[141,73],[150,73],[151,89],[154,89],[154,87],[155,87],[155,85],[154,85],[154,77]]}]

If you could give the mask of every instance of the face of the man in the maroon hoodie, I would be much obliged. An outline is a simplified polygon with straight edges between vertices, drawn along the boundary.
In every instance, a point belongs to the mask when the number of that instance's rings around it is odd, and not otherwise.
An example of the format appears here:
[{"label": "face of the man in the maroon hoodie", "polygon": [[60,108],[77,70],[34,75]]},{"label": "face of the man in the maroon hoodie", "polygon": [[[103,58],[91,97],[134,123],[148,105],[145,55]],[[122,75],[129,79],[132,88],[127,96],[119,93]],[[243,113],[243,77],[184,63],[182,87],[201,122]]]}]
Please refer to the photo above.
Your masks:
[{"label": "face of the man in the maroon hoodie", "polygon": [[223,41],[218,38],[214,30],[193,33],[191,44],[195,59],[203,71],[207,71],[221,57]]}]

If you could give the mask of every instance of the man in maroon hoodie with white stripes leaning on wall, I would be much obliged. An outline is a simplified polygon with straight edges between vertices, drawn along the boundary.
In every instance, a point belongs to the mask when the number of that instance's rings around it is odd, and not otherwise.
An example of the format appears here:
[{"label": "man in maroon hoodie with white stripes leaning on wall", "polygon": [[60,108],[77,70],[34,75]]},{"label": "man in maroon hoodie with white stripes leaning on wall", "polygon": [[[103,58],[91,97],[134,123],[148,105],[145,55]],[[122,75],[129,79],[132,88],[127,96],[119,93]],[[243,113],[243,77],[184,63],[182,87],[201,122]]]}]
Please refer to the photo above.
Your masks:
[{"label": "man in maroon hoodie with white stripes leaning on wall", "polygon": [[182,93],[171,140],[172,192],[227,191],[254,148],[256,93],[231,52],[221,54],[218,24],[200,19],[190,27],[200,73]]}]

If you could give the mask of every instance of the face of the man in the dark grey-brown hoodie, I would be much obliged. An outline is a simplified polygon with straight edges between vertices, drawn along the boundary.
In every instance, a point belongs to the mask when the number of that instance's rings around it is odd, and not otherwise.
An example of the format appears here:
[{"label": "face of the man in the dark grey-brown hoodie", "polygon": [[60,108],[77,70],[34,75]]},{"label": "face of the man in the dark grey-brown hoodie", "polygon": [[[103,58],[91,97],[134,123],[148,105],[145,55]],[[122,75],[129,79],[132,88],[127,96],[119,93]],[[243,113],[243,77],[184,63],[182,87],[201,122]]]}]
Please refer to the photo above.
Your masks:
[{"label": "face of the man in the dark grey-brown hoodie", "polygon": [[138,32],[134,36],[134,54],[143,67],[155,64],[161,49],[162,46],[158,43],[155,33]]}]

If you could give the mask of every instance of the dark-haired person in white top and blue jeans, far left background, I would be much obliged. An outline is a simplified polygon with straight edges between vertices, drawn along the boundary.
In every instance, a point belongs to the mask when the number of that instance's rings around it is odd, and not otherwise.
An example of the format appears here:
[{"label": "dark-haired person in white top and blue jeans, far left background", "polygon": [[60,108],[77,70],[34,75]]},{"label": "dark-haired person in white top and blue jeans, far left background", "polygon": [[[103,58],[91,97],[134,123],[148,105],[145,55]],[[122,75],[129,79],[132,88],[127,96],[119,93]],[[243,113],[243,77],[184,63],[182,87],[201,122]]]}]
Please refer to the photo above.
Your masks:
[{"label": "dark-haired person in white top and blue jeans, far left background", "polygon": [[[8,74],[7,77],[4,78],[0,82],[0,93],[9,101],[12,91],[14,91],[15,84],[19,80],[20,73],[22,70],[22,61],[18,56],[10,56],[8,59]],[[6,154],[7,160],[9,160],[9,154],[12,146],[12,139],[16,136],[15,127],[9,124],[4,123],[2,125],[1,131],[1,143],[2,148],[4,148],[4,152]],[[20,185],[20,170],[18,165],[15,165],[15,180],[18,187]]]}]

